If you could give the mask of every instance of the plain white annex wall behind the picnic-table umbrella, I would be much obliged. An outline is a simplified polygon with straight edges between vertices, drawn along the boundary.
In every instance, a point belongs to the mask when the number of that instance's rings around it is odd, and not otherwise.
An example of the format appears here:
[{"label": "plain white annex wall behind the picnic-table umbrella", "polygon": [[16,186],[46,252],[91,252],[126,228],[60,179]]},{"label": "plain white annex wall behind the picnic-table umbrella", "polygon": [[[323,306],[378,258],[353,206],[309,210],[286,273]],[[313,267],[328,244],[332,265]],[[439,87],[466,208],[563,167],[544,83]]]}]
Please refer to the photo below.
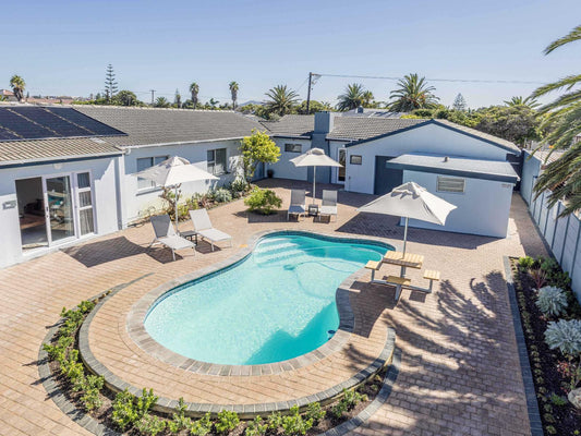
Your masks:
[{"label": "plain white annex wall behind the picnic-table umbrella", "polygon": [[457,206],[446,220],[446,226],[410,220],[410,226],[485,237],[506,238],[512,198],[512,183],[464,178],[463,193],[438,192],[439,174],[403,171],[403,183],[415,182],[428,192]]}]

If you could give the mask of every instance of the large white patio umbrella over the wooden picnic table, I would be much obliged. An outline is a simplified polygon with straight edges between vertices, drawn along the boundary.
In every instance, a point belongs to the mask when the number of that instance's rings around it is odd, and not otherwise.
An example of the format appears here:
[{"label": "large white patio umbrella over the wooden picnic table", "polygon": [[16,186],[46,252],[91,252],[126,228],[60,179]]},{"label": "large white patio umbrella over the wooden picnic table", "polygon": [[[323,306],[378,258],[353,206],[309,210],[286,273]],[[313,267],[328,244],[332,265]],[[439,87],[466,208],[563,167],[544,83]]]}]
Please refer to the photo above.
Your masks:
[{"label": "large white patio umbrella over the wooden picnic table", "polygon": [[410,218],[444,226],[448,214],[453,209],[456,209],[455,205],[431,194],[425,187],[415,182],[408,182],[394,187],[390,193],[361,206],[358,211],[404,217],[403,253],[406,253],[408,221]]}]

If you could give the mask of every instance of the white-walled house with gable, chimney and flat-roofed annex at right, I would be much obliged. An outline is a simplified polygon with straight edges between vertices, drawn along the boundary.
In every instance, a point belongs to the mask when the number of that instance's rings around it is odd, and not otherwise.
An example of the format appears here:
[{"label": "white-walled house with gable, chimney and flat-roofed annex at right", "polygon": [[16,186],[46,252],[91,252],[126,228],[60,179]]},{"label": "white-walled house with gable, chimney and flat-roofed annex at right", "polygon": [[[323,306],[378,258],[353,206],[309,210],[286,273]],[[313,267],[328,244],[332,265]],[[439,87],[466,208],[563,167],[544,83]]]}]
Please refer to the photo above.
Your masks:
[{"label": "white-walled house with gable, chimney and flat-roofed annex at right", "polygon": [[513,167],[521,150],[512,143],[445,120],[342,117],[332,112],[287,116],[263,122],[281,149],[268,168],[274,177],[304,180],[312,171],[294,168],[292,159],[311,147],[326,150],[344,165],[317,169],[317,181],[346,191],[385,194],[415,181],[455,204],[445,227],[413,221],[412,226],[505,238]]}]

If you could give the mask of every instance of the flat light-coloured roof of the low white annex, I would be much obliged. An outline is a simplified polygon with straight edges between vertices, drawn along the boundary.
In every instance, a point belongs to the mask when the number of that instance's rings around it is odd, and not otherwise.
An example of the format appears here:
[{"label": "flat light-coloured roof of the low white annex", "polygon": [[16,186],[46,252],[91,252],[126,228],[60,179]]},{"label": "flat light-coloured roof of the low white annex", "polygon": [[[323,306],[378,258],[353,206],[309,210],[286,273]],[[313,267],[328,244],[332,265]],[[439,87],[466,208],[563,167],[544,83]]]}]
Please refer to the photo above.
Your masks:
[{"label": "flat light-coloured roof of the low white annex", "polygon": [[401,155],[388,160],[386,167],[509,183],[517,183],[519,180],[519,175],[507,161],[469,159],[457,156]]}]

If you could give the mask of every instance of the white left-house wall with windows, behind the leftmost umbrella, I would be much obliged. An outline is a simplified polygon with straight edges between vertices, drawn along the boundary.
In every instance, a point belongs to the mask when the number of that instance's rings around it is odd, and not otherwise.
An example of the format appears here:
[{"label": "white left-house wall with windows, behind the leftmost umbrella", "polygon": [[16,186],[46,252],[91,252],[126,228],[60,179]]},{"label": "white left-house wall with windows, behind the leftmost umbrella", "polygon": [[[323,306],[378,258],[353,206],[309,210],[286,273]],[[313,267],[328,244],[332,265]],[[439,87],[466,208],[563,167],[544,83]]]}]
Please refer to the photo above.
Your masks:
[{"label": "white left-house wall with windows, behind the leftmost umbrella", "polygon": [[199,181],[183,183],[181,186],[182,199],[190,197],[195,193],[204,193],[210,189],[221,186],[225,183],[232,182],[237,174],[240,173],[240,152],[239,141],[221,141],[184,145],[168,145],[157,147],[133,148],[124,157],[123,168],[123,216],[125,221],[134,221],[148,211],[157,210],[164,206],[164,201],[159,198],[160,187],[138,190],[137,178],[137,159],[144,157],[157,156],[180,156],[195,166],[207,171],[207,152],[210,149],[226,148],[226,159],[228,162],[228,173],[219,175],[219,181]]}]

